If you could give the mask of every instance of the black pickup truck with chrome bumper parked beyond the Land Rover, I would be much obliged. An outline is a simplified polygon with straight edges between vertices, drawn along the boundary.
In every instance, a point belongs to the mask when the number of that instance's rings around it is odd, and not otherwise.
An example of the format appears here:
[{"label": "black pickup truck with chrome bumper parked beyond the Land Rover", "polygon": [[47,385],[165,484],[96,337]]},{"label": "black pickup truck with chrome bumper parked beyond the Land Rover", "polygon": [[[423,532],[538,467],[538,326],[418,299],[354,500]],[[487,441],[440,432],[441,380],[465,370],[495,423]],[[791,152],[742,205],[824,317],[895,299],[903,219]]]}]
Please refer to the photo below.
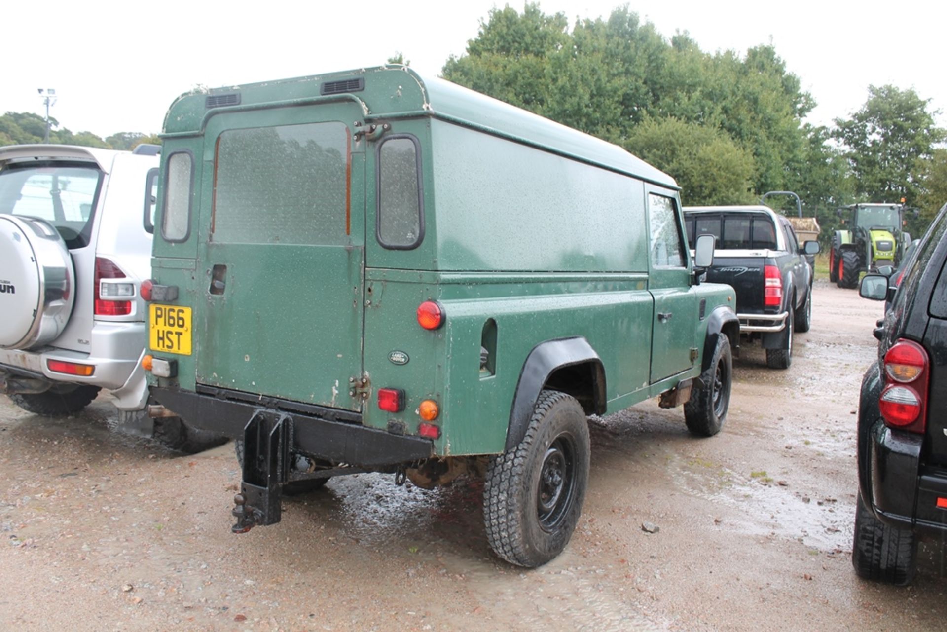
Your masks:
[{"label": "black pickup truck with chrome bumper parked beyond the Land Rover", "polygon": [[802,246],[793,226],[772,208],[685,207],[688,242],[700,235],[717,238],[706,280],[726,283],[737,292],[740,334],[760,340],[766,366],[788,369],[793,361],[793,332],[808,332],[813,314],[813,268],[805,255],[818,242]]}]

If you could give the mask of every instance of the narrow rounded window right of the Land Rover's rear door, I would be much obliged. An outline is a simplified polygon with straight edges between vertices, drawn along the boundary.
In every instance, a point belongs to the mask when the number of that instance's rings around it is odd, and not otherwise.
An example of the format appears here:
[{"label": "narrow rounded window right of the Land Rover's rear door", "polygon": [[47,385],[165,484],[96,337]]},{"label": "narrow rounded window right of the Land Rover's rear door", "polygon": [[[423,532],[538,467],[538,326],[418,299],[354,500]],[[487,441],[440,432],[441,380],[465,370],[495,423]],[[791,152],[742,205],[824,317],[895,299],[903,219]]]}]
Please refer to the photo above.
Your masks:
[{"label": "narrow rounded window right of the Land Rover's rear door", "polygon": [[386,138],[378,148],[378,243],[393,250],[416,248],[424,238],[420,148],[411,135]]}]

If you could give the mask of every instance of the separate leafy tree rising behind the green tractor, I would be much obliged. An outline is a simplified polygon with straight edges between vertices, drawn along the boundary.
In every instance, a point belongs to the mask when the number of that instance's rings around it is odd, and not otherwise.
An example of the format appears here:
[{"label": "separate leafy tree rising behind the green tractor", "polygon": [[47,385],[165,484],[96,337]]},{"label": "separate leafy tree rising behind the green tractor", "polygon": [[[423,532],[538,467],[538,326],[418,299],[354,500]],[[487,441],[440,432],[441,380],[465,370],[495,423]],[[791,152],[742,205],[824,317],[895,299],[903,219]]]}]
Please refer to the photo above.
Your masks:
[{"label": "separate leafy tree rising behind the green tractor", "polygon": [[934,146],[947,137],[935,125],[938,113],[928,112],[929,103],[910,88],[869,85],[865,105],[849,119],[835,119],[832,136],[845,147],[861,201],[918,202],[919,161],[930,160]]}]

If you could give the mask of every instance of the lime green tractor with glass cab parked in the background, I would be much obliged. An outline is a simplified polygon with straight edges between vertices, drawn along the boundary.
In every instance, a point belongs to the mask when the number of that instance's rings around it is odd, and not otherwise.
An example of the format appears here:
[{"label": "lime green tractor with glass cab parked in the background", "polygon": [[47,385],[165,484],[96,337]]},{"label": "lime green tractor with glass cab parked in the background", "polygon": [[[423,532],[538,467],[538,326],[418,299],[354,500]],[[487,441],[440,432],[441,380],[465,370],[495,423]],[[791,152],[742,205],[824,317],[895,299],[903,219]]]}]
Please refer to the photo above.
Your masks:
[{"label": "lime green tractor with glass cab parked in the background", "polygon": [[836,230],[829,253],[829,279],[839,287],[858,287],[862,272],[880,265],[898,265],[911,236],[902,231],[901,204],[853,204],[837,210],[839,217],[850,213],[849,230]]}]

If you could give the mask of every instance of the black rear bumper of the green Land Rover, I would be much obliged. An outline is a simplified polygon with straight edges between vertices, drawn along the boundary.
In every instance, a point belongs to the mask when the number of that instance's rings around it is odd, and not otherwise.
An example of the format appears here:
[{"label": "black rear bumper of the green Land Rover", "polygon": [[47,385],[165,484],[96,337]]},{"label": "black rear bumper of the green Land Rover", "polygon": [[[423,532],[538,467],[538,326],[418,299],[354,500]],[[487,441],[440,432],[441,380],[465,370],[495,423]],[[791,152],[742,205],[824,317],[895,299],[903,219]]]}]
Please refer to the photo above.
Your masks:
[{"label": "black rear bumper of the green Land Rover", "polygon": [[202,392],[195,393],[152,387],[152,397],[188,425],[232,439],[244,439],[248,426],[260,415],[278,418],[290,427],[286,440],[290,452],[332,463],[384,470],[434,454],[430,440],[367,427],[358,413],[200,388]]}]

